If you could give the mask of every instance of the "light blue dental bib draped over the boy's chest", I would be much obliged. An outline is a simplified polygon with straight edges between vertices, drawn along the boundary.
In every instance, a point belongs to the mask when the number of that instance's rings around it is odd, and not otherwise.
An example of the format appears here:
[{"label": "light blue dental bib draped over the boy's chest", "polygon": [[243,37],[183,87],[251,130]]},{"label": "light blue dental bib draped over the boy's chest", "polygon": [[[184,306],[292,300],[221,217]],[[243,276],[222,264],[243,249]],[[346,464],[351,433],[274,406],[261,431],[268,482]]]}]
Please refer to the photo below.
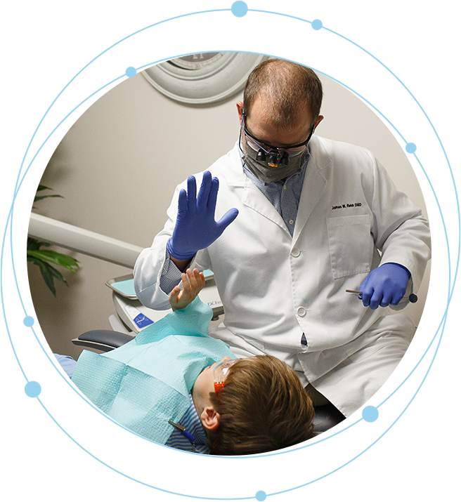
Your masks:
[{"label": "light blue dental bib draped over the boy's chest", "polygon": [[197,297],[143,329],[134,340],[105,354],[84,350],[72,383],[98,409],[124,427],[165,444],[190,406],[202,369],[229,346],[208,335],[212,309]]}]

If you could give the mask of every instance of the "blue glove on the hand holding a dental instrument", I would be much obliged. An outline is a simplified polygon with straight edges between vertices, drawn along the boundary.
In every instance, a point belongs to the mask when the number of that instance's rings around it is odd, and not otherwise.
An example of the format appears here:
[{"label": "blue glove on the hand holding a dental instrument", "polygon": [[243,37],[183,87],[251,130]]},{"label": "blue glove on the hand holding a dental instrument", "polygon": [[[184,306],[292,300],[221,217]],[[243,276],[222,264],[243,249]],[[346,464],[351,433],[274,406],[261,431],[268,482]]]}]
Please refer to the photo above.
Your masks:
[{"label": "blue glove on the hand holding a dental instrument", "polygon": [[384,263],[372,270],[360,285],[365,307],[375,310],[379,306],[397,305],[408,286],[410,272],[398,263]]}]

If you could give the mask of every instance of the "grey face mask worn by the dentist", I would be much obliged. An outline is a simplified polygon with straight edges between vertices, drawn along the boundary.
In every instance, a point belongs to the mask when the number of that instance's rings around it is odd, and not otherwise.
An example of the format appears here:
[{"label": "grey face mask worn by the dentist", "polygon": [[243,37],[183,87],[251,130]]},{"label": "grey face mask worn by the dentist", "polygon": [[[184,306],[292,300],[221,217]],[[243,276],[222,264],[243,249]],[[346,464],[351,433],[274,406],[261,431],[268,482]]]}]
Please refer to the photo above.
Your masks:
[{"label": "grey face mask worn by the dentist", "polygon": [[[242,160],[254,176],[264,183],[273,183],[283,178],[289,178],[301,169],[307,154],[307,143],[311,139],[313,127],[309,138],[296,147],[281,148],[269,147],[253,138],[244,125],[242,116],[239,147],[242,151]],[[245,141],[245,150],[242,148],[242,140]]]}]

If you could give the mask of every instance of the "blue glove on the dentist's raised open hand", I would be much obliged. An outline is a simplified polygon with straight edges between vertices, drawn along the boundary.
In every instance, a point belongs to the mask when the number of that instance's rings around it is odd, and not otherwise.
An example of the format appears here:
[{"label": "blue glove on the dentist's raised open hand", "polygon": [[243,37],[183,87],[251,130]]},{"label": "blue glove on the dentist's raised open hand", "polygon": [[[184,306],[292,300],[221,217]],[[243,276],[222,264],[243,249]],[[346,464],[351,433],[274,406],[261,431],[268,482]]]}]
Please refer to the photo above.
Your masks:
[{"label": "blue glove on the dentist's raised open hand", "polygon": [[195,194],[195,178],[189,176],[188,191],[181,190],[178,199],[178,216],[173,236],[169,238],[167,249],[176,260],[190,260],[199,249],[212,244],[226,230],[238,215],[238,209],[229,209],[218,222],[214,221],[219,180],[212,173],[203,173],[202,186]]}]

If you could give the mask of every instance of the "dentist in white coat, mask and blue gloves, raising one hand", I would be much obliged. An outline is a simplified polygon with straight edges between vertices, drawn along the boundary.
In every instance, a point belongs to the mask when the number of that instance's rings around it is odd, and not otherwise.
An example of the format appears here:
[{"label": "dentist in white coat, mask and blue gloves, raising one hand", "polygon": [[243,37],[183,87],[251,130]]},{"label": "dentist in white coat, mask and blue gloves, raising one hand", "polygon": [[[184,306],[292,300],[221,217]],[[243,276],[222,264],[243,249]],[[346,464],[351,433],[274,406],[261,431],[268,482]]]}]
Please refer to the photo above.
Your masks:
[{"label": "dentist in white coat, mask and blue gloves, raising one hand", "polygon": [[164,309],[183,270],[212,270],[225,310],[212,336],[238,357],[282,359],[350,423],[415,359],[415,326],[391,308],[419,288],[430,232],[368,150],[316,135],[321,103],[309,68],[258,65],[235,147],[176,187],[134,278]]}]

